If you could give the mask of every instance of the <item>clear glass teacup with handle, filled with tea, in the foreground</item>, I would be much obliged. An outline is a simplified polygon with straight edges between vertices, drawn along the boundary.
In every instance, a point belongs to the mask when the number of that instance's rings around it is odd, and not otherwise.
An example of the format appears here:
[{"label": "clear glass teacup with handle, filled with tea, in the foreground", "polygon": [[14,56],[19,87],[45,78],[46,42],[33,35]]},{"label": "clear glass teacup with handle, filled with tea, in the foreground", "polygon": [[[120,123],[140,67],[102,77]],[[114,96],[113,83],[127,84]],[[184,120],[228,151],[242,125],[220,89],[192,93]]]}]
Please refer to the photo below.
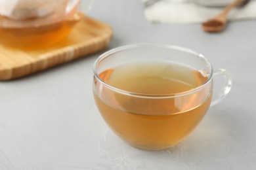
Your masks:
[{"label": "clear glass teacup with handle, filled with tea, in the foreground", "polygon": [[[230,91],[224,69],[187,48],[133,44],[102,54],[93,66],[93,93],[106,124],[123,141],[144,150],[170,148],[199,124]],[[213,76],[224,77],[213,93]]]}]

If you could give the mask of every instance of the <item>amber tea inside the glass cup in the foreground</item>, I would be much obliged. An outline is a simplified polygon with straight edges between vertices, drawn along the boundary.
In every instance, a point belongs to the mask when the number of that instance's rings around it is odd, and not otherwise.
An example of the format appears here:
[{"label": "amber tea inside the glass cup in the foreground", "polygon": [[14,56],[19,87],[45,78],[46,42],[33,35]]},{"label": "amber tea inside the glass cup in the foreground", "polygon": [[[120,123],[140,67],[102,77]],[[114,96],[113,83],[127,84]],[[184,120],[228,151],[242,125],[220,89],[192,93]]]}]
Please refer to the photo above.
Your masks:
[{"label": "amber tea inside the glass cup in the foreground", "polygon": [[[149,96],[192,90],[208,79],[173,63],[121,65],[102,72],[100,78],[121,90]],[[182,141],[202,120],[211,102],[211,87],[186,98],[154,99],[127,97],[98,88],[98,84],[96,81],[95,101],[108,126],[127,143],[146,150],[161,150]]]}]

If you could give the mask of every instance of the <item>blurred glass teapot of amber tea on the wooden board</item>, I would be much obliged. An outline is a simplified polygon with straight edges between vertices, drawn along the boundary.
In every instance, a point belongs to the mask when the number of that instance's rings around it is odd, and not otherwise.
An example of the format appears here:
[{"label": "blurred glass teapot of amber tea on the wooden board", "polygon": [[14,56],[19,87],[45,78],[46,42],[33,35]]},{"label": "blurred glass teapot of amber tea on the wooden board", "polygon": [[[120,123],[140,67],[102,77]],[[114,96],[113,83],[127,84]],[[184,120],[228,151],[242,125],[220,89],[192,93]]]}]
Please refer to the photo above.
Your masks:
[{"label": "blurred glass teapot of amber tea on the wooden board", "polygon": [[[93,0],[0,0],[0,43],[10,48],[41,48],[66,37]],[[81,5],[84,3],[84,5]]]}]

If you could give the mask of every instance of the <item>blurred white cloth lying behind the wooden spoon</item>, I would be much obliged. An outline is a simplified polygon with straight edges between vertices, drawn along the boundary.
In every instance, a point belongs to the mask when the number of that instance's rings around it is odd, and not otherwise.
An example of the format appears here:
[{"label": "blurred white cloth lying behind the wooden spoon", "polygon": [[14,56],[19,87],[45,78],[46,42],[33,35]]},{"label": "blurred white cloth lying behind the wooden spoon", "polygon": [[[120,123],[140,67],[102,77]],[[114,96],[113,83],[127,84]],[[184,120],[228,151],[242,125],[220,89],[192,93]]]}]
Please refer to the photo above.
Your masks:
[{"label": "blurred white cloth lying behind the wooden spoon", "polygon": [[[212,6],[223,6],[233,0],[222,0],[219,4],[217,1],[219,0],[142,0],[147,20],[169,24],[204,22],[223,10],[223,7]],[[251,0],[244,7],[233,9],[228,14],[228,20],[245,19],[256,19],[256,0]]]}]

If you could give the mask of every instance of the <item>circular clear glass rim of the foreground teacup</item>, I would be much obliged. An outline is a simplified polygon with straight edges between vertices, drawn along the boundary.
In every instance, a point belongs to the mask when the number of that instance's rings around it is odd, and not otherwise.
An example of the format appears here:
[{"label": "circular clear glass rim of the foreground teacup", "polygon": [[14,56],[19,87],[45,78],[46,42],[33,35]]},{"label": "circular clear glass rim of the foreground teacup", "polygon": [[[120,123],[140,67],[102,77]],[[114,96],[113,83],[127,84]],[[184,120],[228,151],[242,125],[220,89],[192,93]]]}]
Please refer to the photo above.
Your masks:
[{"label": "circular clear glass rim of the foreground teacup", "polygon": [[[129,50],[131,48],[140,48],[140,47],[143,47],[143,46],[170,48],[170,49],[179,50],[179,51],[182,51],[182,52],[187,52],[187,53],[193,54],[194,56],[198,56],[198,57],[202,58],[203,61],[205,61],[205,63],[207,63],[207,65],[209,65],[209,67],[210,67],[210,74],[208,75],[207,81],[205,81],[200,86],[198,86],[196,88],[193,88],[192,90],[187,90],[187,91],[184,91],[184,92],[167,93],[167,94],[147,94],[147,93],[137,93],[137,92],[129,92],[127,90],[121,90],[119,88],[111,86],[110,84],[104,82],[104,80],[102,80],[100,78],[100,76],[98,75],[98,73],[96,71],[96,67],[97,67],[98,63],[100,63],[100,61],[102,61],[105,58],[108,58],[108,56],[111,56],[111,54],[114,54],[116,52],[120,52],[120,51],[123,51],[123,50]],[[103,54],[101,54],[95,60],[95,63],[93,64],[93,74],[94,74],[94,76],[97,80],[99,80],[102,84],[104,84],[104,86],[106,86],[107,88],[109,88],[111,90],[114,90],[117,93],[122,93],[124,95],[130,95],[130,96],[133,96],[133,97],[161,99],[161,98],[181,97],[181,96],[184,96],[184,95],[189,95],[189,94],[194,93],[194,92],[198,92],[203,87],[207,86],[207,84],[209,84],[209,82],[211,82],[211,79],[213,78],[213,67],[212,67],[211,63],[209,62],[209,60],[207,58],[205,58],[205,56],[203,56],[202,54],[200,54],[198,52],[195,52],[194,50],[191,50],[190,48],[185,48],[185,47],[182,47],[182,46],[174,46],[174,45],[171,45],[171,44],[140,43],[140,44],[129,44],[129,45],[125,45],[125,46],[119,46],[119,47],[113,48],[112,50],[108,50],[107,52],[104,52]]]}]

